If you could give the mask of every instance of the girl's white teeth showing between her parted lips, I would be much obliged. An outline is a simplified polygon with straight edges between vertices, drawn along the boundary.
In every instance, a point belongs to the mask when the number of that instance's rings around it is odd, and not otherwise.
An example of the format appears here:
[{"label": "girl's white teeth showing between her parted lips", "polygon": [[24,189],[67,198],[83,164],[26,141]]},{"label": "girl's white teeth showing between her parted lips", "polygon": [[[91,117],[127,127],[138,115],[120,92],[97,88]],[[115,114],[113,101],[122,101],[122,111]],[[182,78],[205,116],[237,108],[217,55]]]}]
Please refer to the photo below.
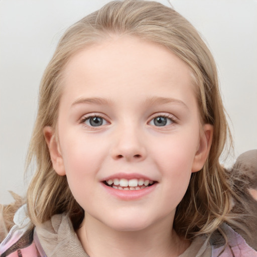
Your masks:
[{"label": "girl's white teeth showing between her parted lips", "polygon": [[140,190],[154,185],[156,182],[153,180],[145,180],[145,179],[109,179],[103,181],[103,183],[114,189],[119,190]]}]

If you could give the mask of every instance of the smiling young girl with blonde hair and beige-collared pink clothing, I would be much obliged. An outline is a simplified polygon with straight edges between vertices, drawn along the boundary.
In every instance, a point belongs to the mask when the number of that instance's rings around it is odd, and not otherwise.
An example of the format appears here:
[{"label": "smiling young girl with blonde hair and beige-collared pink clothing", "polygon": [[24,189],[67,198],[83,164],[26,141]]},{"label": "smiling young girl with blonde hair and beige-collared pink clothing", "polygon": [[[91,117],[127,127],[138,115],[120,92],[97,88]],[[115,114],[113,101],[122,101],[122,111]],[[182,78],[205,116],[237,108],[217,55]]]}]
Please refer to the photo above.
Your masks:
[{"label": "smiling young girl with blonde hair and beige-collared pink clothing", "polygon": [[37,170],[1,256],[257,256],[218,162],[227,135],[192,25],[155,2],[107,4],[67,30],[46,68]]}]

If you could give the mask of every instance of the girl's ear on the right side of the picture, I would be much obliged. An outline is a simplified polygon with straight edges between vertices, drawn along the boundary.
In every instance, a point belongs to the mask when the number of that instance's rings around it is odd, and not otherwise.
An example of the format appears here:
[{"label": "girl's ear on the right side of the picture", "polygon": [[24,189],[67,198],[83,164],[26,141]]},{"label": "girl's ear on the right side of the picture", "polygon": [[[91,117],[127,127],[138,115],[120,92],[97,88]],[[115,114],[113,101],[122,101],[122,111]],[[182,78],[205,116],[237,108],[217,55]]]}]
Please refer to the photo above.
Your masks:
[{"label": "girl's ear on the right side of the picture", "polygon": [[199,147],[194,157],[192,172],[197,172],[202,169],[210,152],[213,136],[213,125],[204,124],[203,131],[204,133],[200,135]]}]

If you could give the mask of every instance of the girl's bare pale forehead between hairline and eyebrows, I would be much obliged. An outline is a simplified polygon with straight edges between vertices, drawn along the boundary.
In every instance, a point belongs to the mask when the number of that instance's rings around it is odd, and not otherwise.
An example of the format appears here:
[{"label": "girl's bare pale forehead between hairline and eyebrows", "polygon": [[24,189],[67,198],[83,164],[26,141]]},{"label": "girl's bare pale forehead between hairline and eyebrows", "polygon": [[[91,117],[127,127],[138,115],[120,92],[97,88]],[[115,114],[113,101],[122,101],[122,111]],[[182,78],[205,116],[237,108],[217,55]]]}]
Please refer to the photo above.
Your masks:
[{"label": "girl's bare pale forehead between hairline and eyebrows", "polygon": [[186,98],[193,92],[191,71],[184,61],[164,46],[131,36],[80,50],[66,64],[63,78],[63,96],[70,98],[87,94],[127,99],[131,91],[150,97],[152,91],[161,97],[171,91]]}]

